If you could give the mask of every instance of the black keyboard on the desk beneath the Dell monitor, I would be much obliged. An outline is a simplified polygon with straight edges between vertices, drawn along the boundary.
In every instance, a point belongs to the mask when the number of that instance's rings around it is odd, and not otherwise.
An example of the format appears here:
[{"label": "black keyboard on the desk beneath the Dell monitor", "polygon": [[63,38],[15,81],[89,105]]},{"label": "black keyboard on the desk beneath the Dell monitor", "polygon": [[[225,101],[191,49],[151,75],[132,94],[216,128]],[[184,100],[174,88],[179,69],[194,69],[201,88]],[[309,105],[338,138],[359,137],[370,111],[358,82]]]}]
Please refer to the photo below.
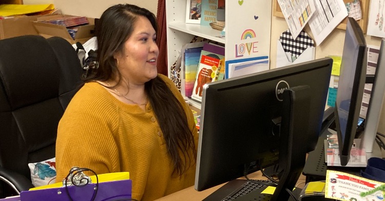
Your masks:
[{"label": "black keyboard on the desk beneath the Dell monitor", "polygon": [[[274,183],[267,180],[253,180],[257,182],[267,183],[273,185]],[[222,186],[213,194],[206,197],[203,201],[229,201],[234,200],[247,193],[253,192],[262,187],[266,187],[263,184],[256,184],[247,180],[233,180]]]}]

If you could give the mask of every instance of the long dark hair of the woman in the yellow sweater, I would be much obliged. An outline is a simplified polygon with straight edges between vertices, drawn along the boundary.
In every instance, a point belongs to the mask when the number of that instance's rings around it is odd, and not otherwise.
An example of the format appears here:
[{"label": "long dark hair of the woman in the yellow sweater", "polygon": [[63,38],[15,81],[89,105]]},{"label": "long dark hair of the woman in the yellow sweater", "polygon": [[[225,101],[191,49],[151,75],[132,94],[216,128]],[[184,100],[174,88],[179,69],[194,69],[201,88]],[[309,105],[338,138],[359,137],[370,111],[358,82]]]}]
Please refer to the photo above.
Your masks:
[{"label": "long dark hair of the woman in the yellow sweater", "polygon": [[[87,82],[107,81],[117,76],[119,81],[122,80],[113,54],[123,51],[124,42],[131,36],[139,16],[146,17],[158,32],[156,16],[145,8],[119,4],[104,11],[95,32],[98,40],[98,67],[91,70]],[[191,154],[194,161],[197,159],[194,136],[188,127],[183,106],[159,77],[146,82],[145,91],[163,132],[167,151],[174,162],[174,171],[182,175],[191,165]]]}]

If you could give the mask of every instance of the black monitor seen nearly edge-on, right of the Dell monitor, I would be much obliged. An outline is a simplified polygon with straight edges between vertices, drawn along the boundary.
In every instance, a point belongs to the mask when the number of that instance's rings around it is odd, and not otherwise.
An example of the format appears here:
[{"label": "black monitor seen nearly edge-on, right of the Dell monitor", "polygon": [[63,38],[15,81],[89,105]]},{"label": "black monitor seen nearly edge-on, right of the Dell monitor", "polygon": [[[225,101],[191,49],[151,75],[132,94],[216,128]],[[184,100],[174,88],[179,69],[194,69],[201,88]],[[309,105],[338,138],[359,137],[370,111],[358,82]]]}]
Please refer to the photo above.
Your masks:
[{"label": "black monitor seen nearly edge-on, right of the Dell monitor", "polygon": [[350,159],[356,135],[367,72],[365,37],[354,18],[348,18],[335,104],[336,131],[342,166]]}]

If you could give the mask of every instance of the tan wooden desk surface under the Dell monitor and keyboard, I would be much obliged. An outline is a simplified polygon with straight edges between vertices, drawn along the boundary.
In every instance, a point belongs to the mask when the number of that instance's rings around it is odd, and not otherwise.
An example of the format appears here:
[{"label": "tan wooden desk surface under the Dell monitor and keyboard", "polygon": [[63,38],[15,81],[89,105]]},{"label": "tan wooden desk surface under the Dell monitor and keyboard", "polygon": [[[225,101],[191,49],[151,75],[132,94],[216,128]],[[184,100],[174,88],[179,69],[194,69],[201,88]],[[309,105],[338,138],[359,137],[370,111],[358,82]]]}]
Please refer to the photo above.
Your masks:
[{"label": "tan wooden desk surface under the Dell monitor and keyboard", "polygon": [[[254,179],[254,180],[266,180],[267,178],[262,176],[262,173],[260,171],[254,172],[252,174],[248,175],[249,178]],[[305,176],[301,174],[299,177],[299,180],[296,184],[298,188],[303,188],[305,186]],[[194,189],[194,186],[188,187],[186,189],[180,190],[178,192],[172,193],[170,195],[167,195],[165,197],[156,199],[156,201],[197,201],[197,200],[203,200],[206,198],[208,195],[222,187],[224,184],[218,185],[216,187],[204,190],[204,191],[196,191]]]}]

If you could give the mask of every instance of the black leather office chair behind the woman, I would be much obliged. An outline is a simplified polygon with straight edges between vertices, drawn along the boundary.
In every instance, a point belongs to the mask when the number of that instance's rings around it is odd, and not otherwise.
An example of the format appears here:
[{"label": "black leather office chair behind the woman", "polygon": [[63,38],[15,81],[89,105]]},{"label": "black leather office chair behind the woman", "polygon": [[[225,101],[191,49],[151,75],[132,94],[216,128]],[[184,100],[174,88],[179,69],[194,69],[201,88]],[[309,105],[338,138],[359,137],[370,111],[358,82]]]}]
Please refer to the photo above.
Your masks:
[{"label": "black leather office chair behind the woman", "polygon": [[33,188],[28,163],[55,157],[57,124],[81,75],[78,55],[63,38],[0,40],[0,196]]}]

